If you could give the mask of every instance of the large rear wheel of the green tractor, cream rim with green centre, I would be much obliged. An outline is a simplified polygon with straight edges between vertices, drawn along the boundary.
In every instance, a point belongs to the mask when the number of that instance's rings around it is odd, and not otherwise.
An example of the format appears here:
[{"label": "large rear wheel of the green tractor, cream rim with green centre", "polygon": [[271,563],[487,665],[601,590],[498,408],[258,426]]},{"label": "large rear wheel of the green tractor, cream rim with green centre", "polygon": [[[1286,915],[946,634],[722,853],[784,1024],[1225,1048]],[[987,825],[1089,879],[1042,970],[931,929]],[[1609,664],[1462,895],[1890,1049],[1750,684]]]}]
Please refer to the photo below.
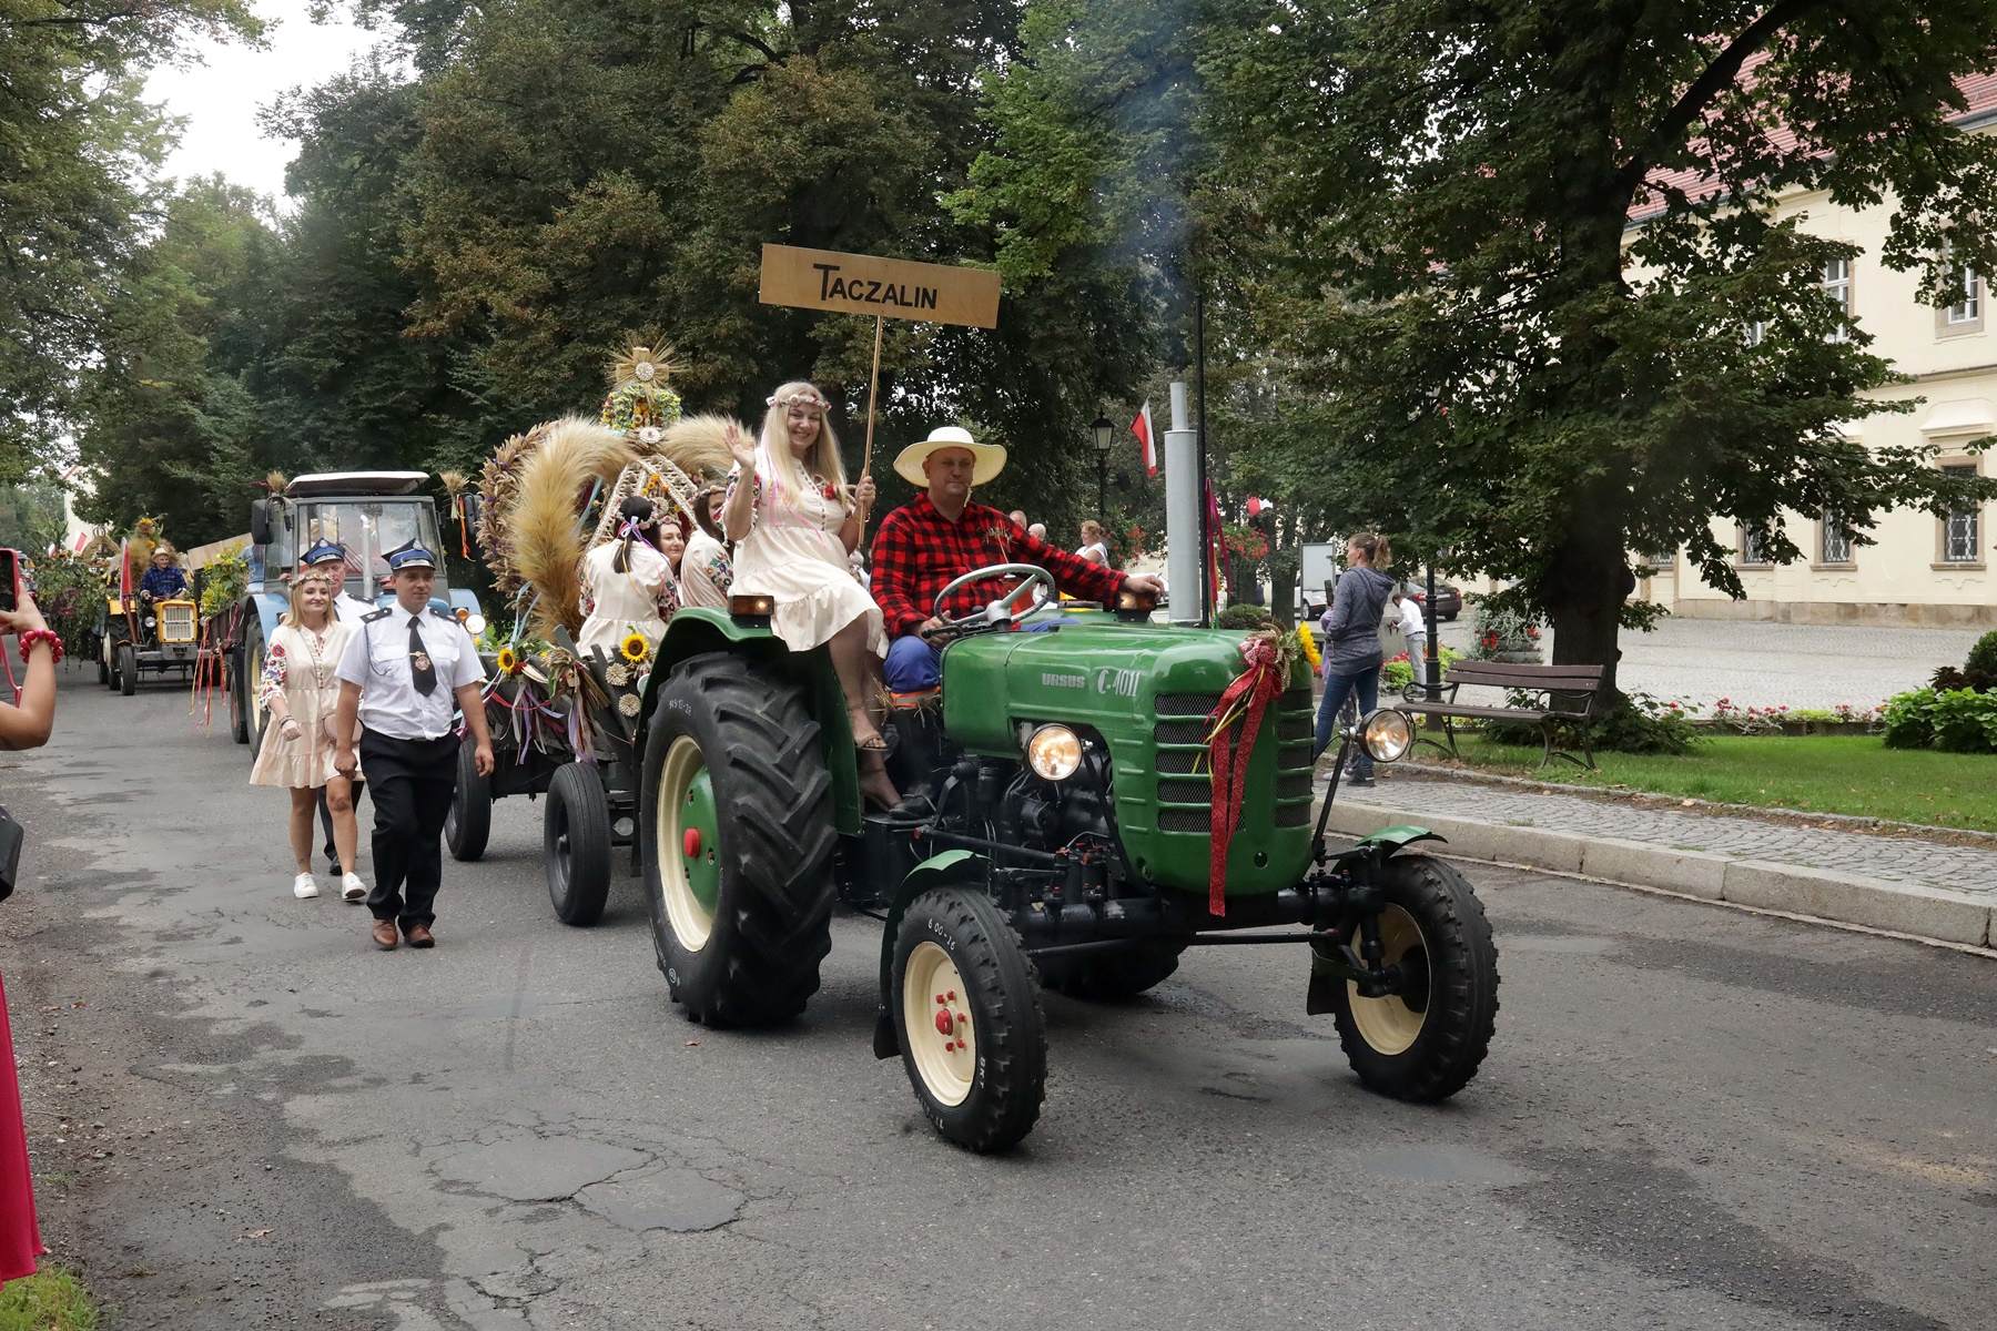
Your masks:
[{"label": "large rear wheel of the green tractor, cream rim with green centre", "polygon": [[645,732],[639,854],[659,970],[691,1020],[805,1010],[833,946],[835,842],[803,688],[733,653],[675,665]]}]

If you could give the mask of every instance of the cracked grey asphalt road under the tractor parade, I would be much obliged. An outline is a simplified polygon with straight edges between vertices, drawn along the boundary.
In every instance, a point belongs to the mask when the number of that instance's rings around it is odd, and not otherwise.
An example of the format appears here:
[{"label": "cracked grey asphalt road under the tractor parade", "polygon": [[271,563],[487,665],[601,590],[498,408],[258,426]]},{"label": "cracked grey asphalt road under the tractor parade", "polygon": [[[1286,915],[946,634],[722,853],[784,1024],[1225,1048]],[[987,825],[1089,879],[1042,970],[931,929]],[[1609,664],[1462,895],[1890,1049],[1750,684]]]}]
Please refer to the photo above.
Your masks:
[{"label": "cracked grey asphalt road under the tractor parade", "polygon": [[871,1056],[873,922],[803,1022],[689,1026],[637,880],[563,928],[507,800],[377,954],[248,766],[82,672],[0,756],[44,1225],[112,1327],[1991,1325],[1983,958],[1470,866],[1504,1010],[1450,1104],[1360,1090],[1302,956],[1208,948],[1050,996],[985,1159]]}]

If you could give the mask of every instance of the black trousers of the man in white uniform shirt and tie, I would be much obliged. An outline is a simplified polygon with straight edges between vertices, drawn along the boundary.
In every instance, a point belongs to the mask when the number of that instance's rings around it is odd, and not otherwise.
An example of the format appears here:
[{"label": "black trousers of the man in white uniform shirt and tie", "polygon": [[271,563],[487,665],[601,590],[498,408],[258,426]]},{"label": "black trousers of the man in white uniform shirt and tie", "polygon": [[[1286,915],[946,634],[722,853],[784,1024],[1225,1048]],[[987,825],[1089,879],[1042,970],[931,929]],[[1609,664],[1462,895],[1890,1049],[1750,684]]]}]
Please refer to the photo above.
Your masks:
[{"label": "black trousers of the man in white uniform shirt and tie", "polygon": [[397,740],[361,730],[361,774],[373,790],[375,882],[367,910],[403,928],[433,924],[443,882],[443,820],[457,790],[457,736]]}]

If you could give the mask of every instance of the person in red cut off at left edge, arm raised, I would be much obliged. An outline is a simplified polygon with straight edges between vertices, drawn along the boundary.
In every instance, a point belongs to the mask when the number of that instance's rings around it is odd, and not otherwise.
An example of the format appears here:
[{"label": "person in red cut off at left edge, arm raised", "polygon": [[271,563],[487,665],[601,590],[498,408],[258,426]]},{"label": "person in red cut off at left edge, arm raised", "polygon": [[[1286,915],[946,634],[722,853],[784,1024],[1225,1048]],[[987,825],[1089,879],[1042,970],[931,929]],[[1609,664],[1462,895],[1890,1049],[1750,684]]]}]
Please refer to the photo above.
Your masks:
[{"label": "person in red cut off at left edge, arm raised", "polygon": [[[18,589],[16,609],[0,611],[0,651],[4,635],[20,643],[26,672],[18,702],[0,702],[0,748],[40,748],[56,728],[56,663],[62,661],[62,639],[50,633],[34,597]],[[0,900],[14,892],[14,856],[20,848],[20,824],[0,812],[0,830],[12,844],[0,858]],[[34,1219],[34,1173],[28,1167],[28,1127],[20,1111],[20,1082],[14,1078],[14,1038],[8,1030],[6,984],[0,982],[0,1285],[34,1275],[40,1257],[42,1231]]]}]

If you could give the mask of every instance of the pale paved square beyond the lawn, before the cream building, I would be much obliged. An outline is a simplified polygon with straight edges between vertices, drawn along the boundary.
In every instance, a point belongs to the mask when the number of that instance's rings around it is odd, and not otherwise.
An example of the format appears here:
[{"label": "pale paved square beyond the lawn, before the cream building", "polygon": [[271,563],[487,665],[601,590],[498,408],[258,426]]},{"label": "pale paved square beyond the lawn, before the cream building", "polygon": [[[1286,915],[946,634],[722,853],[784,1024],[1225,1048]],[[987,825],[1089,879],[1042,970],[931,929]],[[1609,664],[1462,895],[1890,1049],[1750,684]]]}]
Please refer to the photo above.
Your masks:
[{"label": "pale paved square beyond the lawn, before the cream building", "polygon": [[[1977,629],[1875,629],[1861,625],[1767,625],[1667,619],[1656,633],[1622,635],[1618,678],[1628,690],[1711,706],[1877,706],[1915,688],[1939,665],[1963,663]],[[1390,651],[1400,651],[1394,637]],[[1442,625],[1440,641],[1462,651],[1470,617]]]}]

